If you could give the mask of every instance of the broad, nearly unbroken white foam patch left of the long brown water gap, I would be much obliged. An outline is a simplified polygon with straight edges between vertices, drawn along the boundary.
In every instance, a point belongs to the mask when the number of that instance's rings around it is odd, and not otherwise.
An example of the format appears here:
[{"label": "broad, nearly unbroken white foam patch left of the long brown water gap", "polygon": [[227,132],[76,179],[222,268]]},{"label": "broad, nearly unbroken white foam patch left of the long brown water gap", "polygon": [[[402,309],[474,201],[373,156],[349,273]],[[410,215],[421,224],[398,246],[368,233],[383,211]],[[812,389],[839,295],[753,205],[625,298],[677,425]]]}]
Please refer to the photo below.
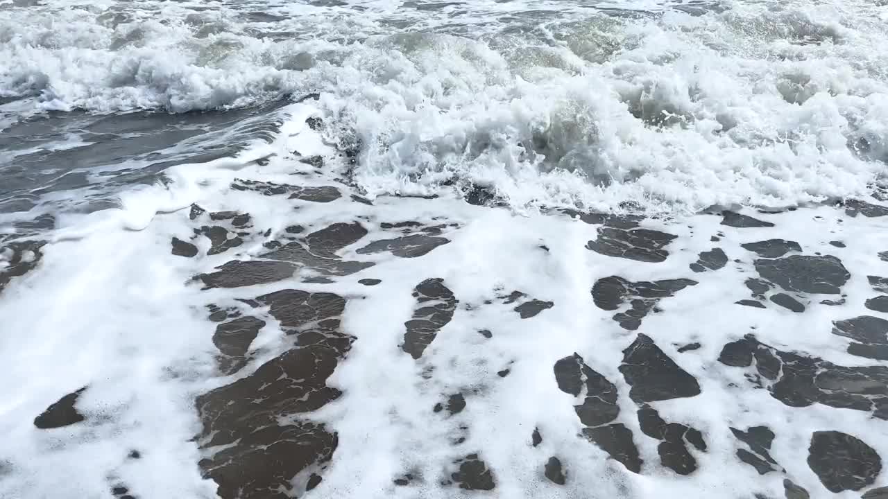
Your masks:
[{"label": "broad, nearly unbroken white foam patch left of the long brown water gap", "polygon": [[[305,126],[305,107],[289,112]],[[237,160],[170,169],[172,187],[127,191],[119,209],[61,218],[40,272],[4,289],[0,497],[107,497],[122,483],[144,498],[215,495],[195,467],[194,396],[224,381],[210,376],[207,295],[183,286],[196,269],[170,255],[168,234],[187,237],[192,202],[225,203],[207,197],[227,190],[237,170],[312,144],[289,138],[291,125],[283,131]],[[205,270],[222,263],[210,260]],[[77,408],[91,424],[35,432],[37,414],[84,386]],[[126,457],[131,450],[139,459]]]}]

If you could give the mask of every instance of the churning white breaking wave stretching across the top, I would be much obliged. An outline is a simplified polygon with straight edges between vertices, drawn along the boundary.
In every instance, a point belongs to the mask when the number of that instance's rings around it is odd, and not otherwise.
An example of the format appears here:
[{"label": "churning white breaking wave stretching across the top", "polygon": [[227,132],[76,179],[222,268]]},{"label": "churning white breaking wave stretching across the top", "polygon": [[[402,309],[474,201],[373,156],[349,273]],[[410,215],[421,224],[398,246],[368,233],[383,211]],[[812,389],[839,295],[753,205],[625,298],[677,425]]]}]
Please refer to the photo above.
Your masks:
[{"label": "churning white breaking wave stretching across the top", "polygon": [[884,7],[865,2],[35,2],[0,10],[0,126],[320,93],[370,195],[785,207],[888,161]]}]

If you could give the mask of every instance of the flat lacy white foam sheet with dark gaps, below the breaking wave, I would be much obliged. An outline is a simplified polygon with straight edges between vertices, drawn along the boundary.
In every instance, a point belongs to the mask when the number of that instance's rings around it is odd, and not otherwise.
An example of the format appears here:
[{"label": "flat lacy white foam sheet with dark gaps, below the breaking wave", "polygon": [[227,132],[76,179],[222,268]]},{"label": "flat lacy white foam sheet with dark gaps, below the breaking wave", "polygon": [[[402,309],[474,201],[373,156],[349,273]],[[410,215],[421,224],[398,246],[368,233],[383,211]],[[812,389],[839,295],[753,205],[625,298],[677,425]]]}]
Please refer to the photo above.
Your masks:
[{"label": "flat lacy white foam sheet with dark gaps, below the breaking wave", "polygon": [[[840,213],[827,207],[757,214],[777,223],[779,236],[799,242],[806,254],[838,254],[827,242],[847,242],[841,257],[853,277],[844,288],[847,305],[842,307],[813,304],[804,314],[774,308],[747,313],[733,303],[747,295],[742,282],[751,266],[749,252],[738,245],[772,237],[775,229],[733,229],[705,215],[646,220],[644,226],[676,234],[678,240],[670,246],[667,262],[639,264],[585,249],[596,237],[596,226],[567,217],[533,212],[519,216],[475,207],[453,196],[381,197],[372,207],[345,197],[293,210],[281,197],[230,190],[237,177],[319,181],[294,176],[294,170],[311,168],[291,155],[299,150],[335,156],[319,136],[307,131],[305,117],[316,111],[295,105],[284,112],[292,119],[270,145],[257,146],[239,160],[173,167],[167,172],[169,185],[132,191],[123,196],[119,210],[63,221],[64,227],[44,248],[38,271],[4,290],[0,315],[7,320],[0,352],[5,366],[2,392],[9,396],[0,405],[5,439],[0,496],[107,497],[116,483],[125,483],[144,499],[214,495],[215,485],[202,480],[196,467],[200,455],[190,439],[200,423],[192,400],[232,379],[212,371],[212,331],[203,319],[203,305],[254,297],[281,286],[327,291],[331,285],[284,281],[202,291],[187,284],[194,273],[208,272],[232,257],[192,260],[170,255],[170,234],[190,234],[184,209],[191,202],[209,210],[248,210],[258,228],[267,227],[275,235],[293,224],[313,230],[354,219],[364,220],[369,228],[404,218],[461,226],[448,234],[451,243],[425,257],[370,257],[377,265],[332,285],[350,299],[343,327],[358,339],[329,380],[344,395],[304,415],[330,424],[339,440],[323,482],[311,496],[463,496],[435,484],[448,477],[442,466],[479,451],[496,476],[497,488],[488,495],[503,499],[588,497],[591,487],[593,496],[607,497],[683,497],[701,490],[718,497],[781,495],[781,473],[759,476],[737,462],[729,425],[770,427],[777,435],[774,458],[812,497],[822,496],[824,490],[805,463],[812,431],[847,432],[888,455],[882,423],[868,413],[822,405],[790,408],[765,390],[728,389],[729,384],[749,382],[742,369],[714,361],[725,343],[754,331],[763,342],[784,350],[815,353],[840,365],[868,363],[846,354],[844,340],[829,330],[830,321],[868,313],[861,305],[872,293],[865,276],[884,265],[876,252],[888,247],[878,219],[840,219]],[[270,162],[260,167],[255,160],[261,157]],[[640,329],[702,386],[702,394],[693,400],[655,404],[667,420],[699,429],[708,443],[705,453],[694,451],[700,469],[678,479],[659,468],[656,442],[638,429],[629,385],[617,369],[633,335],[611,320],[612,312],[591,305],[589,290],[599,278],[612,274],[633,281],[687,276],[688,265],[699,251],[710,248],[710,235],[717,232],[725,234],[719,244],[735,263],[718,273],[694,274],[700,284],[664,299],[658,305],[661,311],[648,316]],[[241,257],[263,250],[259,244],[247,244]],[[365,277],[383,282],[369,290],[357,283]],[[411,290],[427,277],[443,278],[460,305],[417,362],[399,345],[403,324],[415,306]],[[555,305],[533,320],[519,319],[511,311],[513,305],[484,305],[496,293],[511,289]],[[484,339],[478,329],[490,329],[493,337]],[[253,345],[257,359],[245,373],[285,348],[284,337],[274,323],[267,326]],[[676,351],[678,345],[694,341],[703,344],[700,351]],[[582,427],[572,408],[575,399],[559,391],[551,370],[556,360],[573,352],[616,384],[620,421],[635,433],[646,459],[643,475],[625,471],[577,436]],[[427,368],[434,369],[434,376],[421,376]],[[503,368],[511,369],[509,376],[496,376]],[[89,424],[50,431],[34,428],[34,417],[47,405],[82,386],[89,388],[77,408]],[[432,411],[442,394],[451,392],[465,393],[464,411],[451,417]],[[535,427],[544,439],[539,448],[530,445]],[[458,435],[465,440],[453,444]],[[130,449],[138,449],[142,458],[127,460]],[[554,487],[543,477],[541,466],[549,455],[559,455],[566,463],[567,486]],[[408,470],[422,476],[426,485],[393,487],[392,477]],[[876,485],[885,485],[884,478],[880,480]]]}]

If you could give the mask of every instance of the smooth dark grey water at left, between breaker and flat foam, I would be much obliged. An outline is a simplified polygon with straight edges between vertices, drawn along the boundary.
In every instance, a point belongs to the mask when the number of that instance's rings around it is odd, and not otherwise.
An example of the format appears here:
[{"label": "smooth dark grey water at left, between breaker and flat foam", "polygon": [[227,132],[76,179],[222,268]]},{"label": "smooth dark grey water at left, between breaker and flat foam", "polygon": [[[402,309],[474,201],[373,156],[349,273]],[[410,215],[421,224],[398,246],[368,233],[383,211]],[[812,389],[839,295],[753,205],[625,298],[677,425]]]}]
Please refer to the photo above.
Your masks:
[{"label": "smooth dark grey water at left, between breaker and flat foam", "polygon": [[281,125],[276,111],[287,102],[182,114],[13,117],[0,135],[0,213],[20,227],[28,218],[115,208],[122,191],[163,183],[171,166],[234,157],[272,141]]}]

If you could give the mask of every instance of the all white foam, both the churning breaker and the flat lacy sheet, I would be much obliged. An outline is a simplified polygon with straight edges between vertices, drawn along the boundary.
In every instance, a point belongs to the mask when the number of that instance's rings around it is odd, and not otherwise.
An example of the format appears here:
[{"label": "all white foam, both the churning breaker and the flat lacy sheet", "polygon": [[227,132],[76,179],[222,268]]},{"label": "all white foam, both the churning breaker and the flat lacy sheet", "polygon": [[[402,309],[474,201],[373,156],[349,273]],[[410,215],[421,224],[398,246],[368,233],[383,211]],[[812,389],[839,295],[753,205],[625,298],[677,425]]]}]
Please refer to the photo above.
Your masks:
[{"label": "all white foam, both the churning breaker and the flat lacy sheet", "polygon": [[[194,396],[233,378],[213,371],[204,305],[284,286],[347,297],[343,327],[357,337],[330,379],[344,395],[304,415],[329,424],[339,439],[310,497],[468,496],[435,484],[452,471],[443,464],[474,452],[496,473],[497,488],[487,495],[503,499],[671,499],[701,491],[781,496],[784,475],[760,476],[738,463],[728,426],[769,426],[777,435],[774,459],[812,497],[827,493],[805,463],[811,432],[847,432],[888,456],[884,422],[868,413],[789,408],[765,390],[734,390],[731,384],[748,387],[745,371],[715,360],[725,343],[754,331],[781,350],[845,366],[872,363],[847,354],[830,321],[871,313],[862,304],[873,295],[866,276],[884,265],[876,256],[888,248],[884,222],[847,218],[830,207],[756,214],[778,224],[775,234],[686,213],[712,204],[816,202],[865,192],[880,179],[888,151],[888,52],[881,50],[878,17],[884,7],[725,3],[694,17],[635,4],[655,13],[630,19],[580,4],[479,3],[465,12],[455,6],[414,12],[375,2],[361,4],[367,10],[359,13],[263,4],[256,11],[290,17],[247,22],[254,5],[212,11],[185,3],[8,5],[0,3],[0,97],[28,96],[5,105],[16,119],[47,109],[183,112],[250,106],[289,93],[320,91],[321,98],[312,107],[283,109],[291,119],[271,143],[255,141],[234,158],[172,167],[165,184],[120,194],[118,209],[59,219],[37,270],[0,295],[0,392],[7,395],[0,402],[0,496],[108,498],[120,481],[141,499],[213,497],[215,485],[201,479],[201,455],[191,440],[200,431]],[[532,7],[541,12],[522,12]],[[510,16],[519,19],[514,32],[507,20],[494,21]],[[412,32],[418,28],[425,31]],[[467,36],[476,28],[482,36]],[[404,33],[392,35],[399,29]],[[321,134],[307,130],[309,115],[324,118]],[[230,189],[234,178],[330,185],[347,167],[329,144],[357,140],[362,148],[353,175],[365,194],[377,196],[372,207],[344,196],[294,210],[280,196]],[[294,151],[324,155],[327,177],[295,175],[313,169],[297,162]],[[440,188],[454,177],[495,187],[511,210],[456,199],[449,187]],[[440,197],[382,195],[395,192]],[[623,201],[670,213],[643,222],[678,235],[666,262],[601,256],[584,248],[597,226],[535,210],[616,209]],[[192,202],[249,211],[273,237],[294,224],[315,230],[353,220],[372,229],[380,221],[437,218],[460,228],[448,234],[452,242],[415,259],[359,256],[346,248],[349,257],[377,265],[336,284],[199,290],[192,276],[234,255],[170,255],[171,236],[193,234],[186,213]],[[616,325],[613,312],[591,305],[589,293],[595,281],[614,274],[632,281],[687,277],[688,265],[719,231],[729,264],[694,274],[700,283],[662,300],[639,329],[702,386],[694,399],[655,404],[667,420],[699,429],[709,446],[705,453],[692,450],[700,470],[679,478],[659,466],[656,441],[640,432],[637,406],[617,368],[634,336]],[[773,306],[749,313],[734,305],[749,297],[742,283],[753,274],[752,257],[739,244],[770,237],[797,241],[805,254],[840,255],[852,273],[846,304],[813,300],[803,314]],[[237,257],[264,250],[249,242]],[[417,363],[399,345],[416,305],[411,291],[428,277],[443,278],[461,305]],[[383,282],[367,288],[361,278]],[[525,321],[509,306],[484,304],[512,289],[555,305]],[[479,328],[493,337],[484,340]],[[235,377],[273,358],[285,347],[282,338],[270,322],[253,344],[257,359]],[[677,352],[691,342],[701,349]],[[616,384],[620,421],[646,459],[642,475],[577,437],[575,399],[559,391],[552,375],[555,360],[573,352]],[[421,373],[429,366],[435,376],[426,379]],[[509,376],[496,375],[506,367]],[[82,386],[89,388],[77,408],[87,424],[36,430],[36,415]],[[464,412],[448,418],[432,411],[442,394],[456,391],[466,393]],[[460,433],[461,425],[468,431]],[[539,448],[529,443],[535,427],[544,438]],[[466,440],[451,445],[454,433]],[[142,458],[126,459],[130,449]],[[542,476],[550,455],[566,463],[567,487]],[[426,485],[393,487],[392,478],[409,469]],[[888,485],[884,477],[874,485]]]}]

